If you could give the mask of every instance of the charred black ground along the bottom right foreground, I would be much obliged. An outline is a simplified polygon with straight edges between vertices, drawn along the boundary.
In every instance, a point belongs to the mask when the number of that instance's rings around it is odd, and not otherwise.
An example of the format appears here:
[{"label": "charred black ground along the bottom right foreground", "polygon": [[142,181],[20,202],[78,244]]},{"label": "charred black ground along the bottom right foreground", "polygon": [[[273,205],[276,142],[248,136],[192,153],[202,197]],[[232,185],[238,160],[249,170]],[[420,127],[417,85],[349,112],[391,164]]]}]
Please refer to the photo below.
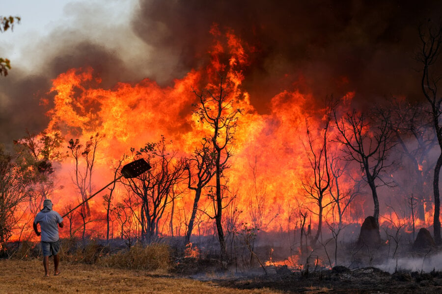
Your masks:
[{"label": "charred black ground along the bottom right foreground", "polygon": [[238,289],[269,288],[282,293],[442,293],[442,272],[396,272],[390,274],[376,268],[349,270],[336,267],[316,272],[285,272],[253,278],[212,280],[222,287]]}]

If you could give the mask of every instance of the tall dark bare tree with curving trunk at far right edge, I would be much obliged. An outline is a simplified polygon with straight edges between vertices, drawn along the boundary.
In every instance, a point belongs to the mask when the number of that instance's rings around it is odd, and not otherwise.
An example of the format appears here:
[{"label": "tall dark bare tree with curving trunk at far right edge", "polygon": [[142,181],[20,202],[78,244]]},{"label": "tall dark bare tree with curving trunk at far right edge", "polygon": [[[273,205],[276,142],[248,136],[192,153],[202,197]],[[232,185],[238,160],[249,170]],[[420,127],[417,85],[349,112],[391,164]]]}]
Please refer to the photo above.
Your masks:
[{"label": "tall dark bare tree with curving trunk at far right edge", "polygon": [[441,199],[439,192],[439,177],[442,167],[442,96],[438,92],[438,86],[441,82],[440,63],[438,63],[441,54],[442,44],[442,24],[432,26],[429,22],[427,26],[419,27],[419,37],[422,42],[420,51],[416,54],[416,60],[422,65],[421,88],[422,93],[427,99],[431,108],[431,119],[440,147],[440,154],[434,167],[433,194],[434,194],[434,239],[438,245],[442,244],[441,237]]}]

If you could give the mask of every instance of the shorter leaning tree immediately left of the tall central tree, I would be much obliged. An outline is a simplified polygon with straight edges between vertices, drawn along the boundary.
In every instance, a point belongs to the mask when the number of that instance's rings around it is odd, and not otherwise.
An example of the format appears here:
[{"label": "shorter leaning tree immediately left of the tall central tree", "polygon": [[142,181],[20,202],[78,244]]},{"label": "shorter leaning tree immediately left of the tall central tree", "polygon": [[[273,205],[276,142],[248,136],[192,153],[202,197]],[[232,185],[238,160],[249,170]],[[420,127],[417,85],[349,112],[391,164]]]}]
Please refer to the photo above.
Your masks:
[{"label": "shorter leaning tree immediately left of the tall central tree", "polygon": [[193,231],[198,202],[201,198],[202,189],[210,182],[215,175],[215,151],[211,142],[203,138],[200,148],[196,148],[191,158],[185,163],[185,170],[188,172],[188,188],[195,191],[193,197],[192,214],[186,233],[185,244],[189,244]]}]

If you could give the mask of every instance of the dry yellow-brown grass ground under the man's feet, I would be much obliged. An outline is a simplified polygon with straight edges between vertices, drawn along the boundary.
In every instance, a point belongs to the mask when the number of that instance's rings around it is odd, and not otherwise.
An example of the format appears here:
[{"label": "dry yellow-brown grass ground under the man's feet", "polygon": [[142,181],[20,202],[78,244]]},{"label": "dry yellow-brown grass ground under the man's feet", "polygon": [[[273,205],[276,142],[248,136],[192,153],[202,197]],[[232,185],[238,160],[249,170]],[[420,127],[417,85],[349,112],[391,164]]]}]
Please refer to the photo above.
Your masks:
[{"label": "dry yellow-brown grass ground under the man's feet", "polygon": [[[52,258],[50,267],[53,269]],[[154,276],[145,270],[110,269],[61,263],[61,274],[43,278],[40,260],[0,260],[0,293],[275,294],[268,289],[238,290],[191,279]]]}]

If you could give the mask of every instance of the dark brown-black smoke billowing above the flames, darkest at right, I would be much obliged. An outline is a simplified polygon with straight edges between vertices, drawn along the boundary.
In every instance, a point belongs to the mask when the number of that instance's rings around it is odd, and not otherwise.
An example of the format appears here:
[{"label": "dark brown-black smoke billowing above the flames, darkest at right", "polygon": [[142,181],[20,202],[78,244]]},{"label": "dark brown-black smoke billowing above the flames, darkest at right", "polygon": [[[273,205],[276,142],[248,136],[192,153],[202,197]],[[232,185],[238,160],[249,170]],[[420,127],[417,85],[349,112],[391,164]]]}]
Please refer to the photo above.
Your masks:
[{"label": "dark brown-black smoke billowing above the flames, darkest at right", "polygon": [[[132,25],[161,52],[161,80],[204,60],[213,24],[233,29],[254,48],[244,84],[265,113],[270,98],[293,87],[316,97],[351,89],[361,100],[418,98],[417,27],[437,19],[441,3],[145,0],[140,8]],[[165,62],[167,56],[179,62]]]}]

